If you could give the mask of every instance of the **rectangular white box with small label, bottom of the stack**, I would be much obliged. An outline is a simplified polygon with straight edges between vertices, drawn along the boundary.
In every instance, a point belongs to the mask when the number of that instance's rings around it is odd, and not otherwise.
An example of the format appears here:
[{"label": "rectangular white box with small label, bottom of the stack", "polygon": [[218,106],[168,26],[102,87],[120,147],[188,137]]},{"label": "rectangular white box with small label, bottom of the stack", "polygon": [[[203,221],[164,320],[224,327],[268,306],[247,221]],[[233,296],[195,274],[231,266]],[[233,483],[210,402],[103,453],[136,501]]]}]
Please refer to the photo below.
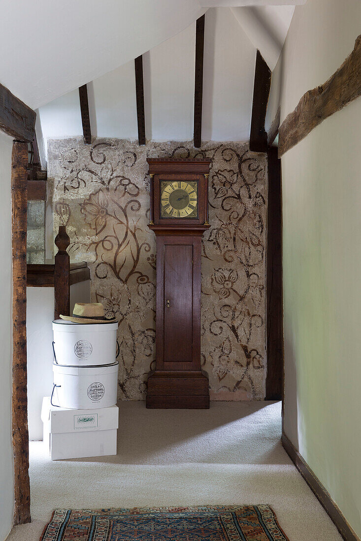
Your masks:
[{"label": "rectangular white box with small label, bottom of the stack", "polygon": [[118,406],[74,411],[51,406],[45,397],[41,419],[51,460],[117,454]]}]

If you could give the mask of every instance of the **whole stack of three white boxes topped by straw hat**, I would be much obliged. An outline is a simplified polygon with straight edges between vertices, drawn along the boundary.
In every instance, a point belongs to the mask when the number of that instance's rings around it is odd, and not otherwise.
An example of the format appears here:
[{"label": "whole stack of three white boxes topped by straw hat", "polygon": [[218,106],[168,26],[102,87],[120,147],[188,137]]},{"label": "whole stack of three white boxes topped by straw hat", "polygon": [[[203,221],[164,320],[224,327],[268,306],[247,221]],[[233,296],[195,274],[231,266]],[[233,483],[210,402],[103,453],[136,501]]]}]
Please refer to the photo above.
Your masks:
[{"label": "whole stack of three white boxes topped by straw hat", "polygon": [[43,399],[51,460],[117,454],[118,322],[100,303],[53,321],[53,392]]}]

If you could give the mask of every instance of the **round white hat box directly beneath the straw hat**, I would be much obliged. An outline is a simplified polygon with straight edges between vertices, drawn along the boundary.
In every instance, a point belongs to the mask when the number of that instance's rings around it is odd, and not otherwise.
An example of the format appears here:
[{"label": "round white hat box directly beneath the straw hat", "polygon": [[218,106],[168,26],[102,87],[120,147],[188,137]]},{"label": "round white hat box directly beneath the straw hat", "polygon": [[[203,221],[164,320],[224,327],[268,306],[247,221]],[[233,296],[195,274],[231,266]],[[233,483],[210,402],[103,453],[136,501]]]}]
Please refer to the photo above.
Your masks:
[{"label": "round white hat box directly beneath the straw hat", "polygon": [[117,349],[118,322],[81,324],[53,321],[54,359],[66,366],[113,364]]}]

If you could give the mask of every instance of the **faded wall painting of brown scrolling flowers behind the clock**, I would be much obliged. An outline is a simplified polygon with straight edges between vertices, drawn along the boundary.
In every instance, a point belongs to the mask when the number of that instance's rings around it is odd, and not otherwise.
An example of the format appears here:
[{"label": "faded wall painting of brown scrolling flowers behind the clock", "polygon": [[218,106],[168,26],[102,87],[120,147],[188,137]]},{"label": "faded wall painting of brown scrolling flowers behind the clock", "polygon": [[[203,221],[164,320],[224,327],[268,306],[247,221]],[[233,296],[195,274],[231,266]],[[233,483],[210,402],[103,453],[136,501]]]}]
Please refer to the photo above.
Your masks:
[{"label": "faded wall painting of brown scrolling flowers behind the clock", "polygon": [[247,143],[80,138],[49,141],[54,236],[66,225],[72,260],[91,269],[92,300],[120,322],[119,398],[143,400],[155,358],[155,236],[147,157],[207,157],[210,229],[202,248],[202,367],[213,400],[265,397],[267,162]]}]

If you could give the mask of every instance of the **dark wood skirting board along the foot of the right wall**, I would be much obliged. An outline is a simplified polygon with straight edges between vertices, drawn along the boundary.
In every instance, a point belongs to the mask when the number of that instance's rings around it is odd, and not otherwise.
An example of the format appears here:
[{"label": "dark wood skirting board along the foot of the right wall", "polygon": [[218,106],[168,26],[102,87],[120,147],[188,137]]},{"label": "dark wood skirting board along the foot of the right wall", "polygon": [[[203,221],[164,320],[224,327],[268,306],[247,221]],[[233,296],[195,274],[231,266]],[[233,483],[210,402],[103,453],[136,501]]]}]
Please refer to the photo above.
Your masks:
[{"label": "dark wood skirting board along the foot of the right wall", "polygon": [[284,432],[282,432],[282,445],[301,476],[305,479],[307,485],[315,494],[320,504],[324,507],[334,525],[336,525],[343,539],[345,539],[345,541],[360,541],[360,538],[357,536],[356,532],[352,530],[337,504],[334,503],[323,484],[315,476],[310,466],[308,466],[305,459],[296,450],[292,441],[289,440]]}]

